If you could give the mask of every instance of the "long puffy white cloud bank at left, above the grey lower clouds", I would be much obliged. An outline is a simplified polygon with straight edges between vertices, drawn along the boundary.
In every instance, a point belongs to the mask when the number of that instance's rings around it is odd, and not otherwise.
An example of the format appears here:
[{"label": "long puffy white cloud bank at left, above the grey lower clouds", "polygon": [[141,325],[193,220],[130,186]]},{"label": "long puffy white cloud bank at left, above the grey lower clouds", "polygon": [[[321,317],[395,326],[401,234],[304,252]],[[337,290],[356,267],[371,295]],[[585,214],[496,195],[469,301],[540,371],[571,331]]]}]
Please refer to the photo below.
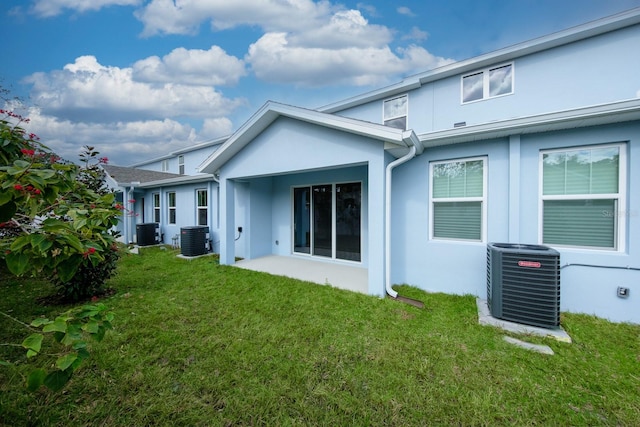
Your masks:
[{"label": "long puffy white cloud bank at left, above the grey lower clouds", "polygon": [[131,68],[104,66],[94,56],[25,81],[33,84],[31,98],[44,114],[72,121],[222,117],[243,103],[210,86],[138,82]]}]

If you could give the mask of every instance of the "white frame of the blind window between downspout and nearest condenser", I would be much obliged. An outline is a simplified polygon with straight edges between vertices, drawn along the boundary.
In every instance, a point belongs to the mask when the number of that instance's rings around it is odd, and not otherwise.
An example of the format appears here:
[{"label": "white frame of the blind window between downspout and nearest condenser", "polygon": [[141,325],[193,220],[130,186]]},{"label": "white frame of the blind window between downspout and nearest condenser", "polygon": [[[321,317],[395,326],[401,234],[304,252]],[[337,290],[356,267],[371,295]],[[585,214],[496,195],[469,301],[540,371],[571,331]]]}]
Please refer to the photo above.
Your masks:
[{"label": "white frame of the blind window between downspout and nearest condenser", "polygon": [[[434,198],[433,197],[433,169],[436,165],[446,164],[446,163],[460,163],[460,162],[473,162],[473,161],[482,161],[482,197],[447,197],[447,198]],[[429,162],[429,240],[433,241],[442,241],[442,242],[464,242],[464,243],[486,243],[487,242],[487,169],[488,169],[489,159],[487,156],[476,156],[476,157],[462,157],[457,159],[448,159],[448,160],[438,160]],[[480,202],[481,208],[480,212],[482,214],[482,218],[480,219],[480,240],[476,239],[455,239],[455,238],[446,238],[446,237],[436,237],[434,236],[434,204],[438,202]]]}]

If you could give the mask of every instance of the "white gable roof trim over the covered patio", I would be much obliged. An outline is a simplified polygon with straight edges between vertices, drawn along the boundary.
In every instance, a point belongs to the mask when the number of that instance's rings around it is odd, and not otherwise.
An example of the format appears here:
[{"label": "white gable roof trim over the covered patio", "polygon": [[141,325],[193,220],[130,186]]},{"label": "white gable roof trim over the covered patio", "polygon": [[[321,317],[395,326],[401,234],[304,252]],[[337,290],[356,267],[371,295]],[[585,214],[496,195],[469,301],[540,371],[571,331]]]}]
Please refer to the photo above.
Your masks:
[{"label": "white gable roof trim over the covered patio", "polygon": [[417,136],[412,130],[405,131],[395,129],[377,123],[269,101],[238,129],[236,133],[229,137],[222,147],[205,159],[198,167],[198,170],[200,172],[216,173],[220,166],[229,161],[279,117],[288,117],[329,129],[336,129],[382,141],[385,143],[385,150],[389,151],[395,157],[406,153],[408,147],[411,145],[419,144]]}]

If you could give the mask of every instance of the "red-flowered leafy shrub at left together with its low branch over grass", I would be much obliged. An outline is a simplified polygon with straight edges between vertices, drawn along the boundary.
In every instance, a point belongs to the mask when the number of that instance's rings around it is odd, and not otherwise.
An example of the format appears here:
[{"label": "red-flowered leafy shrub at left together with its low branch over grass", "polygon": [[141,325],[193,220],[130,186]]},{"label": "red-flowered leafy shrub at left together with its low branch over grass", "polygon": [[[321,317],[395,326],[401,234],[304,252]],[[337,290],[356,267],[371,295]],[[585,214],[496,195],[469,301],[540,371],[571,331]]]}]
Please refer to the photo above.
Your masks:
[{"label": "red-flowered leafy shrub at left together with its low branch over grass", "polygon": [[[5,110],[0,115],[0,260],[15,276],[48,278],[67,300],[95,295],[116,269],[119,252],[112,230],[120,215],[102,169],[92,160],[97,152],[85,148],[84,167],[64,161],[26,133],[20,125],[28,119]],[[28,388],[44,384],[60,390],[89,355],[85,336],[101,340],[112,318],[104,306],[88,305],[53,321],[32,322],[42,332],[22,342],[28,359],[48,348],[43,347],[47,334],[53,336],[52,348],[64,351],[57,354],[54,370],[31,371]]]}]

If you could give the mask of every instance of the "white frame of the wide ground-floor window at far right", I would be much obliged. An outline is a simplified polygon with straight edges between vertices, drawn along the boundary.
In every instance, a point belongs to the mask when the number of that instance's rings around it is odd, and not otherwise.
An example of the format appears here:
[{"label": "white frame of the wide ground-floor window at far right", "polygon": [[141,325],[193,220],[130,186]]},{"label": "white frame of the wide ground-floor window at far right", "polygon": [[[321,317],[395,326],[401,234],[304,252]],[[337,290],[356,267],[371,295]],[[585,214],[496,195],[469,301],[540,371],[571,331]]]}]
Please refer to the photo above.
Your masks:
[{"label": "white frame of the wide ground-floor window at far right", "polygon": [[[603,194],[569,194],[569,195],[549,195],[543,194],[543,157],[549,153],[565,153],[567,151],[578,150],[593,150],[599,148],[612,148],[618,147],[618,193],[603,193]],[[625,252],[626,250],[626,230],[629,212],[627,210],[627,144],[625,142],[614,142],[608,144],[597,145],[578,145],[573,147],[553,148],[548,150],[540,150],[538,159],[538,242],[547,246],[553,246],[558,248],[568,249],[580,249],[588,251],[605,251],[605,252]],[[595,247],[595,246],[577,246],[577,245],[550,245],[548,243],[542,243],[544,234],[544,201],[545,200],[585,200],[585,199],[616,199],[618,201],[618,212],[611,213],[616,218],[616,229],[614,231],[615,244],[613,248]],[[603,215],[606,213],[603,212]]]}]

